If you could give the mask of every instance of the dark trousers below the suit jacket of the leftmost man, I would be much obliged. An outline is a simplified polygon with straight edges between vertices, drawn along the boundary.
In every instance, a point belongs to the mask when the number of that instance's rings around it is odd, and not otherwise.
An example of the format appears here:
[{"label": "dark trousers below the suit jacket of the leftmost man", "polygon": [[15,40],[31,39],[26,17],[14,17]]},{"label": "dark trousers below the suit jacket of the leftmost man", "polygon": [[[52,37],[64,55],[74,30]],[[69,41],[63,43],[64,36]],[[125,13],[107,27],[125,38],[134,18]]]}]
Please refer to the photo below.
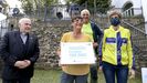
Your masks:
[{"label": "dark trousers below the suit jacket of the leftmost man", "polygon": [[30,83],[30,77],[22,77],[19,80],[2,80],[2,83]]}]

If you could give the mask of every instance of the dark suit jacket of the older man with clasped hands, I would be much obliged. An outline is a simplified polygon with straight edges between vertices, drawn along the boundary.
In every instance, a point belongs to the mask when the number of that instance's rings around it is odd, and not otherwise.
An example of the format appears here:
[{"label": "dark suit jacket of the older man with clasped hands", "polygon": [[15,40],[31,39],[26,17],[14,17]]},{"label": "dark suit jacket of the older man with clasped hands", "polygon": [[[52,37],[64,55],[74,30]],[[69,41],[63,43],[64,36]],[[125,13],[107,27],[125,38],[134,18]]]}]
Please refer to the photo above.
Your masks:
[{"label": "dark suit jacket of the older man with clasped hands", "polygon": [[[20,76],[33,76],[33,65],[40,53],[38,38],[29,33],[25,53],[23,45],[19,31],[12,31],[4,34],[0,45],[0,54],[4,61],[4,69],[2,72],[3,79],[12,80],[19,79]],[[21,60],[30,60],[31,65],[25,69],[15,68],[14,63]]]}]

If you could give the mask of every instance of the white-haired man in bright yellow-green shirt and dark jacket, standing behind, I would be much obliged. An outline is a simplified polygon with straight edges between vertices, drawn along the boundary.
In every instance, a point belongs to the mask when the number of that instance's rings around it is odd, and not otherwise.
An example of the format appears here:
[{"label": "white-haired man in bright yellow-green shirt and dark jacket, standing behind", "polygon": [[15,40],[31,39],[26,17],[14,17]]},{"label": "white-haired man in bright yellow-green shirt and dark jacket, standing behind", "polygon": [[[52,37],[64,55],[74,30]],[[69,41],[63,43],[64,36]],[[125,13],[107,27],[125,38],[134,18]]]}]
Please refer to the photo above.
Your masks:
[{"label": "white-haired man in bright yellow-green shirt and dark jacket, standing behind", "polygon": [[[81,11],[81,17],[83,18],[82,32],[88,34],[94,40],[94,49],[96,59],[98,59],[98,44],[102,40],[103,32],[99,27],[90,20],[91,13],[87,9]],[[97,68],[98,63],[91,65],[91,83],[97,83]]]}]

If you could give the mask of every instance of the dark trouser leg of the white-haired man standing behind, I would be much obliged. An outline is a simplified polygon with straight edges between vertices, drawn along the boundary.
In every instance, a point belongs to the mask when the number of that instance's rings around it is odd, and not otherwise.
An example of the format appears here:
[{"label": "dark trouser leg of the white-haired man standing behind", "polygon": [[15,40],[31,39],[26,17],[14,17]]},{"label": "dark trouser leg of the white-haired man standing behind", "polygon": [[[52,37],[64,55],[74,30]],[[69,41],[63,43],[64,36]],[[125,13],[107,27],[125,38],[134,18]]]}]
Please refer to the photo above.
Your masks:
[{"label": "dark trouser leg of the white-haired man standing behind", "polygon": [[91,83],[97,83],[97,63],[91,65]]}]

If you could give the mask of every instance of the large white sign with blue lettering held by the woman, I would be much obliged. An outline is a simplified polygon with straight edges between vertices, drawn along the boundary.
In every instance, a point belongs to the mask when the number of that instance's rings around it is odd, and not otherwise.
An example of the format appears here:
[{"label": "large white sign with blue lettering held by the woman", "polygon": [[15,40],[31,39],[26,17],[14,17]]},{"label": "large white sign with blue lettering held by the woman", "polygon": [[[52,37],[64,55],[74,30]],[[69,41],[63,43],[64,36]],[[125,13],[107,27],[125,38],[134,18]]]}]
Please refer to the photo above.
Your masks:
[{"label": "large white sign with blue lettering held by the woman", "polygon": [[93,64],[95,60],[92,42],[61,42],[61,64]]}]

